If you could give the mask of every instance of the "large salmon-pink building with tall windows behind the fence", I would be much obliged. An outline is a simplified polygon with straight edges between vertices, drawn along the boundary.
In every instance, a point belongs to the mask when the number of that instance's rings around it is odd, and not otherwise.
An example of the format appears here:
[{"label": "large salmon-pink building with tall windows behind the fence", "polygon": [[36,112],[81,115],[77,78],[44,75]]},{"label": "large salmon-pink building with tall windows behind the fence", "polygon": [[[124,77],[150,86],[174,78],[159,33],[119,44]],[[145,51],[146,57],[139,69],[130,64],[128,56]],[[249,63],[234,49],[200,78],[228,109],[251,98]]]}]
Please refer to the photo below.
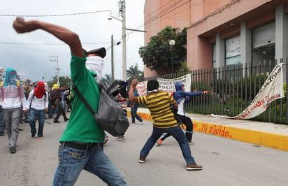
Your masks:
[{"label": "large salmon-pink building with tall windows behind the fence", "polygon": [[144,17],[145,45],[168,25],[188,28],[190,70],[288,57],[288,0],[146,0]]}]

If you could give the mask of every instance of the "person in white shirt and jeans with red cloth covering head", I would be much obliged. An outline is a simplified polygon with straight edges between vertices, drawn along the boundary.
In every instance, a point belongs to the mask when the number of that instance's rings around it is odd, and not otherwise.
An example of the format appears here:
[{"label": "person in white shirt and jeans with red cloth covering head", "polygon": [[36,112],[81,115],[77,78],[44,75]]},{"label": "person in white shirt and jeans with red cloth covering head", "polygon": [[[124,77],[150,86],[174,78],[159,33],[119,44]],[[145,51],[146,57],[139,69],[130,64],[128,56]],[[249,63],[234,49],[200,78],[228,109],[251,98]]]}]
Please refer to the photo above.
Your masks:
[{"label": "person in white shirt and jeans with red cloth covering head", "polygon": [[36,118],[38,118],[38,138],[43,138],[43,128],[45,123],[45,113],[48,113],[48,92],[45,90],[43,81],[39,81],[34,90],[31,90],[27,99],[27,110],[29,110],[29,124],[31,128],[31,138],[35,138]]}]

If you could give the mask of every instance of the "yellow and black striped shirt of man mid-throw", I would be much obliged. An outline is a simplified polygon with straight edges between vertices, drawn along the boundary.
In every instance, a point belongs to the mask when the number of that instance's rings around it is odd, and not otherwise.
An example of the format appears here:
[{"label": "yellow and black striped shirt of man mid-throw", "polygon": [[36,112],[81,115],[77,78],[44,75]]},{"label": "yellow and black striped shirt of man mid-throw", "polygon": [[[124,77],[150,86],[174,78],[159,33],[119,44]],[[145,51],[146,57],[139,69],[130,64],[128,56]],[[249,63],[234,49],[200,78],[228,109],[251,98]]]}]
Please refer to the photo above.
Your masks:
[{"label": "yellow and black striped shirt of man mid-throw", "polygon": [[175,100],[168,92],[158,91],[154,94],[138,97],[138,103],[149,108],[151,117],[154,120],[153,125],[157,128],[170,128],[177,126],[170,104]]}]

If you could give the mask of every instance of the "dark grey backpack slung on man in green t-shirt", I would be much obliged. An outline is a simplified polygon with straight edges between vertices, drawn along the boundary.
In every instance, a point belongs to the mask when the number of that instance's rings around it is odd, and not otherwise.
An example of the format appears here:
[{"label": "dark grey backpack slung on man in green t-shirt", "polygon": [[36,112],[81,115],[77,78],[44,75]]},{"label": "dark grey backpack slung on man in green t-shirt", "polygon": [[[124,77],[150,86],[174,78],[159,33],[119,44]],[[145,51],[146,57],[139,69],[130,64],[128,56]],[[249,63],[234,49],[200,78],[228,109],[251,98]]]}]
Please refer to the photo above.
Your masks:
[{"label": "dark grey backpack slung on man in green t-shirt", "polygon": [[117,83],[113,83],[112,85],[109,83],[98,84],[100,90],[98,113],[94,112],[74,83],[71,83],[71,85],[75,93],[78,94],[85,106],[87,106],[92,115],[94,115],[95,120],[102,129],[108,131],[112,136],[125,134],[125,131],[127,131],[129,127],[129,120],[125,116],[120,103],[112,96],[113,93],[119,89]]}]

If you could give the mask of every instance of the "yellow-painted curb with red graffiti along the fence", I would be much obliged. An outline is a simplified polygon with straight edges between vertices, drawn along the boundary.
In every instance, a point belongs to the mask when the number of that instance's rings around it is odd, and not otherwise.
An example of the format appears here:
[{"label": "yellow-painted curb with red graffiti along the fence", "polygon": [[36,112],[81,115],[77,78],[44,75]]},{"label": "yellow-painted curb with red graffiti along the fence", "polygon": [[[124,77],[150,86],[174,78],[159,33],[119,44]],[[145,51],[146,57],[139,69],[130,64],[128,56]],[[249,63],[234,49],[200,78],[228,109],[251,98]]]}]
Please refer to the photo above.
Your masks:
[{"label": "yellow-painted curb with red graffiti along the fence", "polygon": [[[131,117],[130,110],[127,110],[127,115]],[[138,115],[143,120],[152,121],[152,117],[149,113],[138,112]],[[288,152],[288,136],[280,134],[240,129],[236,127],[229,127],[224,124],[211,124],[207,122],[199,122],[196,120],[193,121],[193,131]]]}]

